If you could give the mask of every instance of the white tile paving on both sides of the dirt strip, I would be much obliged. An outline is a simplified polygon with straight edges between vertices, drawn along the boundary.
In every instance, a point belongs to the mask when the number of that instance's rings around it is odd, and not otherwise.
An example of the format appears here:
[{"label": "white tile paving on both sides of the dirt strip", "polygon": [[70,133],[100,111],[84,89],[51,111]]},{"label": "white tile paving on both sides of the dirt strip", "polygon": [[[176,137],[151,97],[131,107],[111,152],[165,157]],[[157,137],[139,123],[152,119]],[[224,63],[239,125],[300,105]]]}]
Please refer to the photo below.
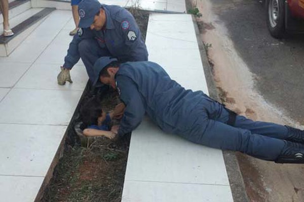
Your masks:
[{"label": "white tile paving on both sides of the dirt strip", "polygon": [[[146,4],[183,5],[151,2]],[[0,58],[0,135],[5,139],[0,142],[0,202],[34,200],[86,85],[81,61],[71,71],[73,84],[56,83],[73,27],[70,11],[55,11],[9,57]],[[189,16],[151,15],[146,43],[150,60],[173,79],[208,92]],[[192,80],[185,79],[184,69]],[[233,200],[220,150],[164,134],[144,120],[132,134],[122,201]]]}]

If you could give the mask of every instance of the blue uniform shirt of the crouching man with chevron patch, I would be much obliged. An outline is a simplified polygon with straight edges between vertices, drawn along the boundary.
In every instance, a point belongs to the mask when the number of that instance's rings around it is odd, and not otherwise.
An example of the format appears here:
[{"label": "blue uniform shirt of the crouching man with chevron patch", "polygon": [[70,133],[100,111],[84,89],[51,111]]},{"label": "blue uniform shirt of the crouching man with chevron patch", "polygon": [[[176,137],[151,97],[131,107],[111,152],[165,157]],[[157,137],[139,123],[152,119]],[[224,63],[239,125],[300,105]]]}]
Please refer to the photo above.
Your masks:
[{"label": "blue uniform shirt of the crouching man with chevron patch", "polygon": [[112,57],[122,62],[147,61],[148,52],[134,17],[119,6],[102,5],[106,15],[105,29],[82,28],[69,44],[63,67],[71,69],[80,59],[78,44],[82,39],[95,39]]}]

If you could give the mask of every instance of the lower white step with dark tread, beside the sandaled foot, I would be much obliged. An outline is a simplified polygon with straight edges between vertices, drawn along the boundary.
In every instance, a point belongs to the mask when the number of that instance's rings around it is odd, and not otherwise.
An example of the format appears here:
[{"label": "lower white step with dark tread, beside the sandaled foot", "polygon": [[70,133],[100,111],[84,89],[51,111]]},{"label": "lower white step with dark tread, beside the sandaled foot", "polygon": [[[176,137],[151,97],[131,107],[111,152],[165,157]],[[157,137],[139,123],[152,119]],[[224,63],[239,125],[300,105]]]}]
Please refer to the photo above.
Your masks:
[{"label": "lower white step with dark tread, beside the sandaled foot", "polygon": [[[0,36],[0,56],[9,56],[14,49],[54,11],[54,8],[29,9],[10,20],[10,25],[15,33],[13,36]],[[25,19],[25,20],[24,20]],[[3,27],[0,28],[3,33]]]}]

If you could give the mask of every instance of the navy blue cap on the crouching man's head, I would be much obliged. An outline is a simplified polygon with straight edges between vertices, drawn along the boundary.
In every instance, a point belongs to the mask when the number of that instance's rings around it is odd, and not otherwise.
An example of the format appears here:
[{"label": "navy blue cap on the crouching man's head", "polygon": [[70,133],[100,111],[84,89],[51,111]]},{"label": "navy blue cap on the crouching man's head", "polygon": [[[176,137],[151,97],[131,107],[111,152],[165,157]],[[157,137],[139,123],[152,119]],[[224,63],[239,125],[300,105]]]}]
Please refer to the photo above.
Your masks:
[{"label": "navy blue cap on the crouching man's head", "polygon": [[78,13],[80,17],[79,27],[90,27],[94,22],[94,17],[101,8],[98,0],[82,0],[78,4]]}]

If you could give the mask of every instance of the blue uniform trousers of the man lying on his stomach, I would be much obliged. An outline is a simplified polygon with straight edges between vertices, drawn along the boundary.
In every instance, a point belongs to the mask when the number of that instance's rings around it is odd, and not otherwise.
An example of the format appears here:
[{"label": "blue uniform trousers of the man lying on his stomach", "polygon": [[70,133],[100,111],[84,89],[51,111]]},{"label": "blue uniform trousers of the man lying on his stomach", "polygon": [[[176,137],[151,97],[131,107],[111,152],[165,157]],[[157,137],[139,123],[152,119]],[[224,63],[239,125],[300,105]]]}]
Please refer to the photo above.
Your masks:
[{"label": "blue uniform trousers of the man lying on his stomach", "polygon": [[234,126],[226,124],[229,111],[210,99],[198,108],[202,133],[185,138],[209,147],[241,151],[250,156],[274,161],[280,155],[288,137],[288,129],[279,124],[252,121],[237,116]]}]

